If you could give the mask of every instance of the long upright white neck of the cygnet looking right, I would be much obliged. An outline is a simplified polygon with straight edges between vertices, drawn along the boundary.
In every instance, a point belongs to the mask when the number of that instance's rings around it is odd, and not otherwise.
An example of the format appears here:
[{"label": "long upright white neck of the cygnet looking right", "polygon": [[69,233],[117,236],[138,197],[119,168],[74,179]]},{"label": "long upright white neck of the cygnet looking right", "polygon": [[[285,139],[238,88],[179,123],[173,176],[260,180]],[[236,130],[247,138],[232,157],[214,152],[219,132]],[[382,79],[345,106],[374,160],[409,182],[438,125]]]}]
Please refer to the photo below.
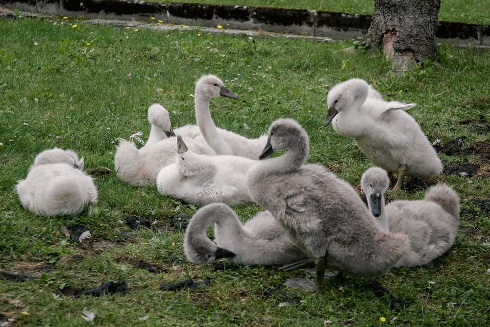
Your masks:
[{"label": "long upright white neck of the cygnet looking right", "polygon": [[221,138],[216,128],[211,113],[209,112],[210,99],[205,97],[199,89],[196,88],[196,98],[194,99],[196,109],[196,122],[206,143],[216,151],[216,154],[233,155],[228,145]]}]

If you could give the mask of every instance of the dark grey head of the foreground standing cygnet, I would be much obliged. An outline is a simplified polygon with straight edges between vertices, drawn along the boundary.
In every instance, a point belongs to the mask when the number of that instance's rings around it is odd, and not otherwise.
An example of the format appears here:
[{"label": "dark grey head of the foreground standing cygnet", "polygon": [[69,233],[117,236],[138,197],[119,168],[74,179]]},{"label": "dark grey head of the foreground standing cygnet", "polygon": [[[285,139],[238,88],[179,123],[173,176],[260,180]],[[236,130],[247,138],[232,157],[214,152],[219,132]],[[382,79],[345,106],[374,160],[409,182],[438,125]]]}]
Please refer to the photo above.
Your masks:
[{"label": "dark grey head of the foreground standing cygnet", "polygon": [[294,119],[280,118],[270,125],[267,145],[259,159],[265,159],[275,151],[292,148],[307,154],[309,151],[308,134]]}]

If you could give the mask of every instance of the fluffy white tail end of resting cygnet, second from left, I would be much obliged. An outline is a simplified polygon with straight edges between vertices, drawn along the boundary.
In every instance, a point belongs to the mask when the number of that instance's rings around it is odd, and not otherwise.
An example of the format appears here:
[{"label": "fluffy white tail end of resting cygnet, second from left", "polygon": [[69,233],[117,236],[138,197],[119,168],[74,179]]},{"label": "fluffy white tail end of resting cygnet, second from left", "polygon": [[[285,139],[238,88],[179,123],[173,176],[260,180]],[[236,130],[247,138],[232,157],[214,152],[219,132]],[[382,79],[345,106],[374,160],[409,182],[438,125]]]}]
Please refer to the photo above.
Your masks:
[{"label": "fluffy white tail end of resting cygnet, second from left", "polygon": [[133,142],[119,140],[114,156],[114,167],[119,178],[126,183],[133,184],[140,167],[140,151]]}]

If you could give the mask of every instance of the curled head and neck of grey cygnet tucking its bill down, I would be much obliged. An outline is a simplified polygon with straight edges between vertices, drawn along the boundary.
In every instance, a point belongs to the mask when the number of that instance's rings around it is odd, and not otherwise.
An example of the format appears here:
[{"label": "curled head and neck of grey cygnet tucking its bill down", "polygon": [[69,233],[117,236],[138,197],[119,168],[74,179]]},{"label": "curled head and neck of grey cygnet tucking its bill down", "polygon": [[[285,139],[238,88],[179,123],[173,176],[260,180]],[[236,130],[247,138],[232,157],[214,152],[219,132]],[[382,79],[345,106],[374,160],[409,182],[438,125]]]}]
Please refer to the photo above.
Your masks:
[{"label": "curled head and neck of grey cygnet tucking its bill down", "polygon": [[206,235],[206,229],[220,217],[230,215],[231,209],[223,203],[208,204],[197,210],[187,226],[184,237],[184,252],[189,261],[205,265],[221,258],[235,256],[235,253],[218,247]]}]

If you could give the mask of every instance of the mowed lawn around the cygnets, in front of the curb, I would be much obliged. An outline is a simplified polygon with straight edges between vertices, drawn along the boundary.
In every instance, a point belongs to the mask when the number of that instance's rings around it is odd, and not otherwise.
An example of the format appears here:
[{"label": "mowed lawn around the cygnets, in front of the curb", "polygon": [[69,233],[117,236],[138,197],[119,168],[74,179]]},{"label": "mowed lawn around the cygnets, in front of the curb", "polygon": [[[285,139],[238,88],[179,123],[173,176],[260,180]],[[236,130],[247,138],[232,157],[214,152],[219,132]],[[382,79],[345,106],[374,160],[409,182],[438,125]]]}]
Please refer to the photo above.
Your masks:
[{"label": "mowed lawn around the cygnets, in front of the curb", "polygon": [[[387,74],[390,65],[377,52],[342,51],[352,40],[319,43],[41,19],[0,20],[0,30],[0,269],[32,277],[0,282],[0,313],[15,318],[13,326],[488,326],[490,222],[472,199],[489,198],[489,166],[477,155],[440,153],[446,163],[482,168],[471,178],[423,179],[421,187],[397,195],[421,199],[424,183],[452,185],[462,199],[461,230],[434,269],[392,269],[378,279],[400,300],[393,307],[389,296],[378,298],[370,281],[355,276],[328,280],[323,293],[312,294],[283,286],[288,278],[308,277],[302,269],[214,271],[194,265],[184,255],[185,231],[176,222],[195,207],[160,196],[156,187],[126,185],[115,173],[94,176],[99,210],[93,214],[38,217],[15,192],[35,155],[53,147],[84,156],[87,170],[114,169],[117,138],[136,131],[147,137],[146,112],[154,102],[169,110],[173,126],[194,124],[190,95],[203,74],[218,75],[240,97],[212,101],[217,126],[253,138],[277,118],[294,118],[310,136],[308,162],[330,166],[357,187],[370,163],[353,140],[323,127],[328,90],[364,78],[387,100],[417,102],[410,113],[431,142],[445,145],[465,136],[466,148],[490,136],[488,52],[441,45],[441,66],[426,62],[395,76]],[[234,209],[243,221],[260,210],[254,204]],[[124,223],[129,215],[156,223],[132,230]],[[67,242],[60,226],[70,224],[89,227],[91,241]],[[132,265],[139,262],[164,272]],[[211,283],[198,290],[159,290],[164,282],[190,277]],[[130,292],[60,295],[110,280],[126,282]],[[61,300],[54,299],[58,295]],[[82,319],[84,309],[97,314],[93,323]]]}]

